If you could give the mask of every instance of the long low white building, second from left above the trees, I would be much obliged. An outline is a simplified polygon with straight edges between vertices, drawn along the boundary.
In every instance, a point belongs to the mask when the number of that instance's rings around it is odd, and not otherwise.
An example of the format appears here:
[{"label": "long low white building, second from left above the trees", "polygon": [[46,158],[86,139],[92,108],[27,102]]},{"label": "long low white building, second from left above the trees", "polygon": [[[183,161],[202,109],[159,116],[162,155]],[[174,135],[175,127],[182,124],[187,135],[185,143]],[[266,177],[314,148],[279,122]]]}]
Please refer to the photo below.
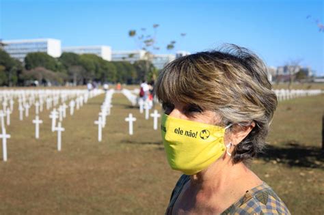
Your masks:
[{"label": "long low white building, second from left above the trees", "polygon": [[94,54],[102,57],[106,61],[111,61],[111,48],[110,46],[73,46],[62,48],[64,53],[76,54]]}]

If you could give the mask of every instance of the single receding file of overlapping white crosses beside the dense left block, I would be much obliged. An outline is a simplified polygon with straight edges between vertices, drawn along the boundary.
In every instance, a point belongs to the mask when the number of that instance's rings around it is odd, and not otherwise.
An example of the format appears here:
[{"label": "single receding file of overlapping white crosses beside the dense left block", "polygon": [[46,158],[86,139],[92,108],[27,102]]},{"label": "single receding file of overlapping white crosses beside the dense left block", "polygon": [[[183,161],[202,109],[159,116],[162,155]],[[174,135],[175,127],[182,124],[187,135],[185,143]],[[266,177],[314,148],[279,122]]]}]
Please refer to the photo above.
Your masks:
[{"label": "single receding file of overlapping white crosses beside the dense left block", "polygon": [[115,93],[114,89],[109,89],[105,95],[105,101],[100,106],[100,113],[98,114],[98,120],[94,121],[94,124],[98,125],[98,142],[103,140],[103,128],[105,128],[107,115],[110,115],[111,98]]}]

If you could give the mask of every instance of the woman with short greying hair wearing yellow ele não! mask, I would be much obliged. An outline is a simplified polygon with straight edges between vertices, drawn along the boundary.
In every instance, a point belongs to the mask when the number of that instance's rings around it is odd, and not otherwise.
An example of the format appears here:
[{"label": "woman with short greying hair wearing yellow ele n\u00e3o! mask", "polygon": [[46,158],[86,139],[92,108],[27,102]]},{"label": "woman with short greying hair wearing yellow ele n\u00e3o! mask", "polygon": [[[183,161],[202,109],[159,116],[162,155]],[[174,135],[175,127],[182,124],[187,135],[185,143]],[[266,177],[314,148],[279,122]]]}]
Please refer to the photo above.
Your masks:
[{"label": "woman with short greying hair wearing yellow ele n\u00e3o! mask", "polygon": [[159,75],[167,161],[184,173],[166,214],[290,214],[248,163],[277,106],[265,64],[246,48],[180,57]]}]

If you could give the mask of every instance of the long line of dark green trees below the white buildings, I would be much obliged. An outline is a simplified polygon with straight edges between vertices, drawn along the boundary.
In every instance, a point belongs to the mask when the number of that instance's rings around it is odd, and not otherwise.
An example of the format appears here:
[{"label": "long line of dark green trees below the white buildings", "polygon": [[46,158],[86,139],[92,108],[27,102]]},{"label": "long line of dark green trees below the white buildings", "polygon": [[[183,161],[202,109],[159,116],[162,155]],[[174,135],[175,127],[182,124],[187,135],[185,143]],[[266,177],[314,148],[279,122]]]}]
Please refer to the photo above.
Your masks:
[{"label": "long line of dark green trees below the white buildings", "polygon": [[97,55],[62,53],[58,58],[46,53],[28,53],[23,63],[0,49],[0,85],[23,86],[38,81],[40,85],[84,85],[100,83],[136,84],[157,76],[150,61],[106,61]]}]

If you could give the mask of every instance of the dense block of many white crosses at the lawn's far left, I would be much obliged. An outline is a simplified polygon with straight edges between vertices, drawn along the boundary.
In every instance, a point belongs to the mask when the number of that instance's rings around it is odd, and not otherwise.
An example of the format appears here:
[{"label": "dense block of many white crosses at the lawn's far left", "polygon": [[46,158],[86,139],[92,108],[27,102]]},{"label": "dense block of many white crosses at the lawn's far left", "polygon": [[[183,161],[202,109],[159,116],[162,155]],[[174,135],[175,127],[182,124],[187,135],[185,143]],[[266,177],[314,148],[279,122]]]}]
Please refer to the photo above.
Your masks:
[{"label": "dense block of many white crosses at the lawn's far left", "polygon": [[[23,120],[23,115],[25,113],[25,117],[29,116],[29,109],[32,105],[35,106],[36,119],[33,119],[32,122],[35,124],[35,137],[36,139],[40,138],[40,124],[42,124],[42,120],[40,120],[38,114],[43,111],[43,104],[46,101],[46,109],[51,109],[52,107],[57,106],[59,104],[59,100],[63,103],[62,106],[62,117],[66,116],[66,104],[67,100],[72,98],[76,98],[76,102],[74,100],[70,101],[70,115],[74,113],[74,107],[77,105],[77,109],[86,103],[88,98],[92,98],[101,94],[102,90],[94,90],[88,92],[87,90],[81,89],[72,89],[72,90],[53,90],[53,89],[42,89],[42,90],[1,90],[0,91],[0,104],[3,106],[4,111],[0,111],[0,119],[1,119],[1,130],[0,139],[2,139],[3,143],[3,160],[8,160],[7,155],[7,139],[10,138],[10,134],[6,134],[4,117],[6,117],[6,124],[10,126],[10,114],[14,111],[14,100],[18,102],[18,111],[19,111],[19,119]],[[76,104],[77,103],[77,104]],[[52,113],[51,113],[52,115]],[[55,114],[53,114],[55,115]],[[53,121],[52,121],[53,126]],[[62,145],[62,128],[61,122],[57,123],[54,129],[52,127],[52,131],[57,131],[57,149],[61,150]]]}]

